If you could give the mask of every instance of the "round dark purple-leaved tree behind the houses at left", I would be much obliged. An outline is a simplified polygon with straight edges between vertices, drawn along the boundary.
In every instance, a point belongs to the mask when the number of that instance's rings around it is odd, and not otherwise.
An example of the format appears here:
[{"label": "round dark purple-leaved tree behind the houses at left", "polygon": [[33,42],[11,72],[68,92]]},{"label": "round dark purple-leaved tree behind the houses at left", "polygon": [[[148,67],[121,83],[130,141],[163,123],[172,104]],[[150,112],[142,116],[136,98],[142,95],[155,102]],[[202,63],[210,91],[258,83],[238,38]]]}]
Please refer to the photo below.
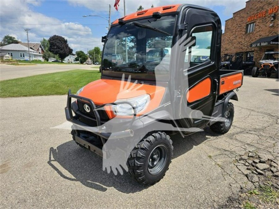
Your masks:
[{"label": "round dark purple-leaved tree behind the houses at left", "polygon": [[61,60],[65,59],[73,50],[69,47],[67,39],[62,36],[53,35],[48,39],[49,51],[58,54]]}]

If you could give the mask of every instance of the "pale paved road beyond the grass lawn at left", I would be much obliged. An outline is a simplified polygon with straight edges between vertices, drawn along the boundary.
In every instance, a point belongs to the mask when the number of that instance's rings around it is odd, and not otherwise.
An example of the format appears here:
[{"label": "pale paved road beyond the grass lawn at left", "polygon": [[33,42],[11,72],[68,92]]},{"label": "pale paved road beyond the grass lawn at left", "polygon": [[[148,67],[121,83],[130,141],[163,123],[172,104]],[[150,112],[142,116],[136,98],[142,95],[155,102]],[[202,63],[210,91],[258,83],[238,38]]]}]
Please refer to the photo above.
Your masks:
[{"label": "pale paved road beyond the grass lawn at left", "polygon": [[73,69],[99,70],[99,65],[84,64],[32,64],[32,65],[6,65],[0,64],[0,80],[34,76],[39,74],[61,72]]}]

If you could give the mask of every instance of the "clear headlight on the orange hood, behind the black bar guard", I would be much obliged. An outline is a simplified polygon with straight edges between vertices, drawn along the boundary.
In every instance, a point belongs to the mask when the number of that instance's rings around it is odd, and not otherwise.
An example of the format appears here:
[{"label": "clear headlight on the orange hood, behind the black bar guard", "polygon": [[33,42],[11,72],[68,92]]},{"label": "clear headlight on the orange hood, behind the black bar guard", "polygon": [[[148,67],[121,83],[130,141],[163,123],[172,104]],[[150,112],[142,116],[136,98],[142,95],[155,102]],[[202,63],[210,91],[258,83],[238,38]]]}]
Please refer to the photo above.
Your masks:
[{"label": "clear headlight on the orange hood, behind the black bar guard", "polygon": [[[131,99],[119,99],[116,100],[115,103],[123,102],[123,101],[131,102],[134,105],[136,112],[138,114],[140,111],[143,111],[145,107],[147,107],[150,101],[150,95],[144,94],[143,96],[139,96]],[[129,104],[113,105],[112,109],[115,115],[123,115],[123,116],[134,115],[134,110]]]}]

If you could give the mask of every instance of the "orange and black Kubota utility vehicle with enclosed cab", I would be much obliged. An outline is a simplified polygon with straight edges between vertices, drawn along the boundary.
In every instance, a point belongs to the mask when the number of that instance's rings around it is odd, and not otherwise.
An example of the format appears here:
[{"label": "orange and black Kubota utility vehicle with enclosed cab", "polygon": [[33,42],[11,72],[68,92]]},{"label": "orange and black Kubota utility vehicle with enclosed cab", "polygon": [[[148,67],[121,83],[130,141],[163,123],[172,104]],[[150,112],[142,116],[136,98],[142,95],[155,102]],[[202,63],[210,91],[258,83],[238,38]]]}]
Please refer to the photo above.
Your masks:
[{"label": "orange and black Kubota utility vehicle with enclosed cab", "polygon": [[[230,100],[238,100],[233,90],[241,87],[243,71],[219,69],[221,35],[214,11],[188,4],[114,21],[102,37],[101,79],[77,94],[69,90],[65,112],[73,140],[104,157],[108,172],[121,173],[121,165],[141,184],[161,180],[173,153],[169,135],[207,126],[224,134],[232,125]],[[158,53],[150,58],[151,50]],[[116,164],[106,166],[108,160]]]}]

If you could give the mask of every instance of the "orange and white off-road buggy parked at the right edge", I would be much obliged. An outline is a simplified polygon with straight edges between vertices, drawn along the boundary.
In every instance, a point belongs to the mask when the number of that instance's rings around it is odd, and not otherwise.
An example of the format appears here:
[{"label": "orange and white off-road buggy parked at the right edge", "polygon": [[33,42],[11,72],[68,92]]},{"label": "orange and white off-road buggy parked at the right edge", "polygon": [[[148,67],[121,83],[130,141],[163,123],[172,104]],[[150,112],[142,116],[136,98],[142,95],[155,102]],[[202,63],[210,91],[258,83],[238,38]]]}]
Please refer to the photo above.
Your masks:
[{"label": "orange and white off-road buggy parked at the right edge", "polygon": [[275,77],[278,78],[278,53],[274,51],[265,52],[262,60],[259,61],[261,67],[253,67],[252,77],[258,77],[259,75],[270,77],[272,73],[275,73]]}]

